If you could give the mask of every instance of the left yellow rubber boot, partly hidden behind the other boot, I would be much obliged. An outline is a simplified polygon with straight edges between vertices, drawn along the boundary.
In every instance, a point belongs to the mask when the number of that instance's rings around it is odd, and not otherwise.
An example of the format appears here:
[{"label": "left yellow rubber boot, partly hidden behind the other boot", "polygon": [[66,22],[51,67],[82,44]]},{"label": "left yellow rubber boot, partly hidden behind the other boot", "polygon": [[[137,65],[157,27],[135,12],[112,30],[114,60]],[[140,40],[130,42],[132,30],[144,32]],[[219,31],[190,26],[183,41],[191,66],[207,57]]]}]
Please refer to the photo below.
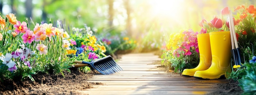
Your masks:
[{"label": "left yellow rubber boot, partly hidden behind the other boot", "polygon": [[200,62],[195,68],[184,69],[182,75],[194,76],[195,71],[207,70],[211,66],[211,44],[209,33],[198,34],[197,38]]}]

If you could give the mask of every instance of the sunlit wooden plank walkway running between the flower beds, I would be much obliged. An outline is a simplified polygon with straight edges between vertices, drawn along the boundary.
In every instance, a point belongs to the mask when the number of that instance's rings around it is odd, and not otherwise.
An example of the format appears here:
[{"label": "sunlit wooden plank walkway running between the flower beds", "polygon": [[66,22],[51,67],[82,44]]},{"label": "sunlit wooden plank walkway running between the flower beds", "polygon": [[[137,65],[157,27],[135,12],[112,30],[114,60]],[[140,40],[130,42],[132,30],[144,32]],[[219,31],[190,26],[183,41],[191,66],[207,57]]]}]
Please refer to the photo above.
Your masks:
[{"label": "sunlit wooden plank walkway running between the flower beds", "polygon": [[219,83],[227,83],[225,79],[200,80],[166,72],[157,66],[155,61],[161,60],[153,53],[122,55],[117,64],[124,69],[112,75],[94,75],[90,82],[100,82],[86,91],[84,95],[204,95],[213,91]]}]

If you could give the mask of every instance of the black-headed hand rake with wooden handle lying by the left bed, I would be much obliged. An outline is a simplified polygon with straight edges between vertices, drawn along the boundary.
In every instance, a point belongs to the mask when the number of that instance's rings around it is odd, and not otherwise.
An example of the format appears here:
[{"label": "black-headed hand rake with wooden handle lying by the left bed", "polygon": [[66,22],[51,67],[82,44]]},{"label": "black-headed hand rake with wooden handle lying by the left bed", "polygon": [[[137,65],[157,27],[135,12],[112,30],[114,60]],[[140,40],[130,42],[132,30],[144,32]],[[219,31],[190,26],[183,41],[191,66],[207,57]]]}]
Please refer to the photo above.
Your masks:
[{"label": "black-headed hand rake with wooden handle lying by the left bed", "polygon": [[113,60],[113,58],[110,55],[100,58],[98,60],[94,60],[92,62],[76,60],[73,63],[77,63],[73,66],[76,68],[91,65],[92,68],[94,68],[95,70],[99,71],[104,75],[109,75],[112,73],[116,73],[118,71],[123,71],[123,69],[117,64],[117,62],[115,62],[115,60]]}]

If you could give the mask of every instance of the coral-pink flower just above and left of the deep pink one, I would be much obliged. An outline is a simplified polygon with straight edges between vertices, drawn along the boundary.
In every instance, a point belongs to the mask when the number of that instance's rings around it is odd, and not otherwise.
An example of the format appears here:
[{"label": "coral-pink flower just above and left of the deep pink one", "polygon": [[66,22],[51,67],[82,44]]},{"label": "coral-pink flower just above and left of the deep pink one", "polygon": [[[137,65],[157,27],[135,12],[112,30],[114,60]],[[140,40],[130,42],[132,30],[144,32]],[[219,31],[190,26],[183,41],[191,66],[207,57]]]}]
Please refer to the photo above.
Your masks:
[{"label": "coral-pink flower just above and left of the deep pink one", "polygon": [[27,31],[27,23],[26,22],[22,22],[20,24],[20,21],[17,21],[13,27],[16,28],[14,30],[16,33],[20,33],[20,32],[25,33],[25,31]]}]

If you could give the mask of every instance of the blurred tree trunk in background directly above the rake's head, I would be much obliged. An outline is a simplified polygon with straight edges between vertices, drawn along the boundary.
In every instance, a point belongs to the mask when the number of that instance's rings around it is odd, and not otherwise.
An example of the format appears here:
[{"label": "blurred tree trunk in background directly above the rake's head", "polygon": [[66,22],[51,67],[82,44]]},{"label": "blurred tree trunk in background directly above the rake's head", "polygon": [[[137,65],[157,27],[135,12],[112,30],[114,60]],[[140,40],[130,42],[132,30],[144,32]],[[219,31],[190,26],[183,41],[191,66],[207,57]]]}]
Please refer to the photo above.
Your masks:
[{"label": "blurred tree trunk in background directly above the rake's head", "polygon": [[108,26],[112,27],[113,26],[113,19],[114,19],[114,9],[113,9],[113,3],[114,0],[108,0]]}]

